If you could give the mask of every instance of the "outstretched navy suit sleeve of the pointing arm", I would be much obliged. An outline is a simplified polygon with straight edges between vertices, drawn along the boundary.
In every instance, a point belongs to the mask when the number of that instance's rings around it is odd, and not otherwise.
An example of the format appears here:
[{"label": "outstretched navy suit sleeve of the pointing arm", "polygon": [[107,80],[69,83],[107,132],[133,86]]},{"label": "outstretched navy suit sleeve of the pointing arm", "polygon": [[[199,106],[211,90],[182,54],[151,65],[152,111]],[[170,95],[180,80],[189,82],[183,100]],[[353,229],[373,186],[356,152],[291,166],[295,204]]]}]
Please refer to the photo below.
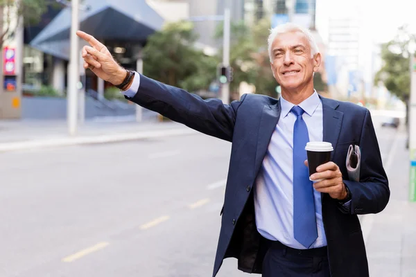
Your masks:
[{"label": "outstretched navy suit sleeve of the pointing arm", "polygon": [[183,89],[157,82],[141,74],[139,77],[137,93],[125,98],[198,132],[232,141],[237,109],[245,96],[240,101],[224,105],[217,98],[203,100]]}]

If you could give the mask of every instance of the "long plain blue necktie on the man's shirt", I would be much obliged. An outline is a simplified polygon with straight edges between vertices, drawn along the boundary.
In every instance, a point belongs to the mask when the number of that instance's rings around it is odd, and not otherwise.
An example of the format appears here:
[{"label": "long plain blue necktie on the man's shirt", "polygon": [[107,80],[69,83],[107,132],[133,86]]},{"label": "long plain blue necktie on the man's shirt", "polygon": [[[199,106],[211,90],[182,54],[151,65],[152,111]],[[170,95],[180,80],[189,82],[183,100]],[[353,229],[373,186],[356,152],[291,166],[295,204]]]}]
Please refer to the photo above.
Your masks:
[{"label": "long plain blue necktie on the man's shirt", "polygon": [[318,238],[313,186],[304,165],[309,134],[302,118],[304,110],[294,106],[291,112],[297,117],[293,126],[293,233],[295,240],[309,248]]}]

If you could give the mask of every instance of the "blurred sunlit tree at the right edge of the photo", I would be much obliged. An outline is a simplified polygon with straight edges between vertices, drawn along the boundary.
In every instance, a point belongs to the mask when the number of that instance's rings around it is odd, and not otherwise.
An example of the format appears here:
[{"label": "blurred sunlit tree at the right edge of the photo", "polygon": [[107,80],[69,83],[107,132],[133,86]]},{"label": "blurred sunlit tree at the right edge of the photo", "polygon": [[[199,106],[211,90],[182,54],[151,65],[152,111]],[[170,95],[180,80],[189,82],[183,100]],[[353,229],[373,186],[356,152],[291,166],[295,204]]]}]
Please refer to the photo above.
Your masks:
[{"label": "blurred sunlit tree at the right edge of the photo", "polygon": [[415,35],[408,32],[407,26],[401,26],[390,42],[382,44],[381,59],[383,66],[376,73],[374,84],[383,82],[390,93],[404,102],[410,96],[410,46],[415,43]]}]

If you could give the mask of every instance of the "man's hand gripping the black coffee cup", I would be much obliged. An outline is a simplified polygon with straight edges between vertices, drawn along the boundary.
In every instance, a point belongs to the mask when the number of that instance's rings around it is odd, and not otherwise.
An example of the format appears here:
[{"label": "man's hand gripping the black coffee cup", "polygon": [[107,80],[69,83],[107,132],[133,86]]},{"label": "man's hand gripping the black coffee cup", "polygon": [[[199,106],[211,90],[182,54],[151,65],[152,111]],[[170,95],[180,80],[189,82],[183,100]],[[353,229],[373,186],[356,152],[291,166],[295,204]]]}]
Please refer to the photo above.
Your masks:
[{"label": "man's hand gripping the black coffee cup", "polygon": [[[305,161],[305,165],[308,166],[308,161]],[[328,193],[333,199],[343,200],[347,197],[347,189],[343,182],[343,174],[340,172],[340,168],[329,161],[316,168],[316,173],[311,175],[311,180],[324,179],[313,184],[313,188],[320,193]]]}]

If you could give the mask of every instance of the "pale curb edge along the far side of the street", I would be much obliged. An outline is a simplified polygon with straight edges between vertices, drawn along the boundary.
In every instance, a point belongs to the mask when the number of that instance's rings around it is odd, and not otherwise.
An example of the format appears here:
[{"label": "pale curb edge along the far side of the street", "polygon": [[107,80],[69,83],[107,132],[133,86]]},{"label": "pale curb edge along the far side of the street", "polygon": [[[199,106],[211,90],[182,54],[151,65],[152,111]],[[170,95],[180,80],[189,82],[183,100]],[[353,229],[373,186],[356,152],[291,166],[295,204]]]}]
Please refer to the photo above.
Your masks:
[{"label": "pale curb edge along the far side of the street", "polygon": [[121,133],[121,134],[104,134],[96,136],[76,136],[63,137],[55,139],[38,139],[33,141],[18,141],[12,143],[0,143],[0,152],[15,150],[28,150],[34,148],[49,148],[56,146],[112,143],[117,141],[134,141],[137,139],[160,138],[164,136],[182,136],[187,134],[197,134],[193,129],[167,129],[158,131]]}]

